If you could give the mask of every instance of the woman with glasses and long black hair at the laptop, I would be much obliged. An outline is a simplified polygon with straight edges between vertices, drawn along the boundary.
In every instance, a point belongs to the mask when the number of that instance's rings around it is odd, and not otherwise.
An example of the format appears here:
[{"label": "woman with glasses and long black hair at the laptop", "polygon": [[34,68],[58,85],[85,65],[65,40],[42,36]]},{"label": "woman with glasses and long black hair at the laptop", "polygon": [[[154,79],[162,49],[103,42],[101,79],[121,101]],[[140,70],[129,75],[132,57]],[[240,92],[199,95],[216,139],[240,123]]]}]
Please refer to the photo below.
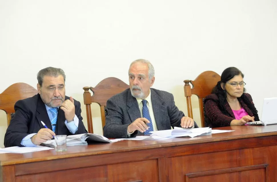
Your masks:
[{"label": "woman with glasses and long black hair at the laptop", "polygon": [[221,80],[204,100],[207,126],[216,128],[259,121],[252,97],[245,93],[243,77],[235,67],[222,72]]}]

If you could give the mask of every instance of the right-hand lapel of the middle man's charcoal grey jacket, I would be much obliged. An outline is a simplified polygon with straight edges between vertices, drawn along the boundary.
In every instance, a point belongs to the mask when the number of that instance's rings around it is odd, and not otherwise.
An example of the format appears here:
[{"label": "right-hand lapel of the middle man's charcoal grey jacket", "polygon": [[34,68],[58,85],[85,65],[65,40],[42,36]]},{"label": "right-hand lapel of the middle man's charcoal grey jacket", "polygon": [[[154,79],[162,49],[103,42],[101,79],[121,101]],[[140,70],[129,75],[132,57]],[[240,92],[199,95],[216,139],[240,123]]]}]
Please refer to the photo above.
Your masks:
[{"label": "right-hand lapel of the middle man's charcoal grey jacket", "polygon": [[166,107],[163,106],[164,101],[153,89],[151,89],[151,102],[157,129],[166,130],[167,110]]}]

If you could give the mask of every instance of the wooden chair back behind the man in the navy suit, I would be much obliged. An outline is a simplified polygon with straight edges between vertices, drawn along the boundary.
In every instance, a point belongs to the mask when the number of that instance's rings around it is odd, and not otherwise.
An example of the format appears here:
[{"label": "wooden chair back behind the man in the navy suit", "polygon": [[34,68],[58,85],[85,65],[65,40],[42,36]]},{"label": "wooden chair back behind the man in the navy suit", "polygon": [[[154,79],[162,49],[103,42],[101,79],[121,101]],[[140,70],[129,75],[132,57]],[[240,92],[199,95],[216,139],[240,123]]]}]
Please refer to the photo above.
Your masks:
[{"label": "wooden chair back behind the man in the navy suit", "polygon": [[37,89],[26,83],[12,84],[0,94],[0,110],[6,112],[8,126],[15,112],[15,102],[33,97],[35,94],[37,94]]}]

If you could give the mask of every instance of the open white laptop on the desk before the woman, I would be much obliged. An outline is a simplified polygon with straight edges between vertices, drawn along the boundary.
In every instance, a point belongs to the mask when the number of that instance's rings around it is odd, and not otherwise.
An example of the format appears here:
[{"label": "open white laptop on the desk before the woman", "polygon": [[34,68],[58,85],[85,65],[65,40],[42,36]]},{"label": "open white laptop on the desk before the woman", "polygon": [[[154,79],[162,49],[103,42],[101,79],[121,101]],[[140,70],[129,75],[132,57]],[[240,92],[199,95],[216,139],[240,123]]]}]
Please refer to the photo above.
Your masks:
[{"label": "open white laptop on the desk before the woman", "polygon": [[277,124],[277,97],[264,98],[264,104],[262,106],[262,117],[260,121],[247,122],[249,125],[268,125]]}]

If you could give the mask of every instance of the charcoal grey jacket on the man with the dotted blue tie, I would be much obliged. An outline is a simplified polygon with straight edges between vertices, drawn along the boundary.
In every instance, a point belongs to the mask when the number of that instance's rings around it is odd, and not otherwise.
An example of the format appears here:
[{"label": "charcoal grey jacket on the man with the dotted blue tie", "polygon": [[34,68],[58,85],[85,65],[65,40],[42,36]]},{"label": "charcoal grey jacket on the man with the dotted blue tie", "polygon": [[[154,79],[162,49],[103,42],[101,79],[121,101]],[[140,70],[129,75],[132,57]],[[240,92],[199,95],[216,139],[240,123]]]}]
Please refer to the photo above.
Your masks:
[{"label": "charcoal grey jacket on the man with the dotted blue tie", "polygon": [[[158,130],[169,130],[170,126],[180,127],[184,116],[175,106],[173,95],[151,88],[151,101]],[[138,103],[130,89],[117,94],[107,101],[108,114],[104,126],[104,136],[109,138],[127,138],[127,128],[137,118],[141,118]],[[198,128],[194,122],[194,126]],[[135,131],[131,137],[142,133]]]}]

